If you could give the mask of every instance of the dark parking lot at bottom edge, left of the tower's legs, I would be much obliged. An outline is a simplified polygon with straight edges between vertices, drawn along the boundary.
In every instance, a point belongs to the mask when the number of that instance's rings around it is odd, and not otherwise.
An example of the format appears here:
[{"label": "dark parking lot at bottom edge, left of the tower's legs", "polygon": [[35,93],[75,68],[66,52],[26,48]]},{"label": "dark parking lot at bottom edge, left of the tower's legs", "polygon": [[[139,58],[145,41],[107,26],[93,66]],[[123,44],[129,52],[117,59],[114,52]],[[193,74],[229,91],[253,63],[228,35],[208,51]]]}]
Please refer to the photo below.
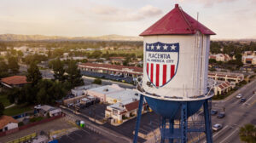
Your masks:
[{"label": "dark parking lot at bottom edge, left of the tower's legs", "polygon": [[70,143],[70,142],[76,142],[76,143],[84,143],[84,142],[93,142],[93,143],[113,143],[114,140],[108,139],[101,134],[96,134],[95,132],[92,132],[90,129],[79,129],[71,134],[63,135],[59,139],[59,142],[61,143]]}]

